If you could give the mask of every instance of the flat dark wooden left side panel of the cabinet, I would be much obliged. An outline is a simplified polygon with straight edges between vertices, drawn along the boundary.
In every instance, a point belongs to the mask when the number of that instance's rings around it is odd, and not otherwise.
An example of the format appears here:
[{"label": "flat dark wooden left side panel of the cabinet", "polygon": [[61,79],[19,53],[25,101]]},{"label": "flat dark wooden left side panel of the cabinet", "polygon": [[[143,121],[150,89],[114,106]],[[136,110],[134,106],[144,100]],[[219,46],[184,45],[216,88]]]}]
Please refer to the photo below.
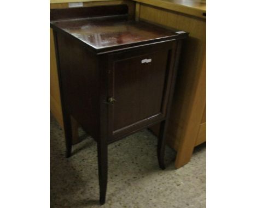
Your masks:
[{"label": "flat dark wooden left side panel of the cabinet", "polygon": [[57,33],[57,47],[62,105],[96,139],[100,109],[97,57],[66,34]]}]

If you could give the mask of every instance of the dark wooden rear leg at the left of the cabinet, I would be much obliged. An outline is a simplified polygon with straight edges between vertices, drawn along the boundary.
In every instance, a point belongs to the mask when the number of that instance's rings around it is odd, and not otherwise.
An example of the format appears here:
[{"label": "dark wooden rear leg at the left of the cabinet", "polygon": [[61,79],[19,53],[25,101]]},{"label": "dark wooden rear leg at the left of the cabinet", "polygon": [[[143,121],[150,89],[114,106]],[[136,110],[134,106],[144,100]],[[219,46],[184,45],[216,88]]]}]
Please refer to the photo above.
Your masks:
[{"label": "dark wooden rear leg at the left of the cabinet", "polygon": [[65,140],[66,140],[66,157],[71,156],[72,151],[72,125],[71,125],[71,116],[63,112],[63,123],[65,131]]}]

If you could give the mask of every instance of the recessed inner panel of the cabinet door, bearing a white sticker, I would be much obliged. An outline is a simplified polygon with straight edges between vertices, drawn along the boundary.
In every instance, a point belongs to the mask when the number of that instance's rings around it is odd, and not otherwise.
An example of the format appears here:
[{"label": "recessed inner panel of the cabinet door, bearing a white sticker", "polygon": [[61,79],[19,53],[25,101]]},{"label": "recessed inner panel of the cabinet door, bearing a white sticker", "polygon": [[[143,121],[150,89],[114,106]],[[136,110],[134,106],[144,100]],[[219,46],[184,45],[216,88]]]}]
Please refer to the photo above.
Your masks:
[{"label": "recessed inner panel of the cabinet door, bearing a white sticker", "polygon": [[113,132],[162,113],[168,50],[113,63]]}]

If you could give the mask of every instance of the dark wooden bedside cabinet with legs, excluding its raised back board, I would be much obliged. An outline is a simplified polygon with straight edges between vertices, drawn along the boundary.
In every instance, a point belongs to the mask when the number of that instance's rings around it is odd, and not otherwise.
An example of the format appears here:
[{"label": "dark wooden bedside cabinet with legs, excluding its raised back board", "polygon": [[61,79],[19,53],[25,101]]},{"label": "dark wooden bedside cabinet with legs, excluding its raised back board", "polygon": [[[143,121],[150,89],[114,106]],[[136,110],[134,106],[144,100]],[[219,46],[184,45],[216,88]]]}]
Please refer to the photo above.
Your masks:
[{"label": "dark wooden bedside cabinet with legs, excluding its raised back board", "polygon": [[[51,26],[55,31],[66,155],[71,156],[72,116],[97,142],[100,203],[104,204],[109,143],[161,123],[157,153],[160,168],[165,168],[167,118],[181,39],[187,33],[177,34],[120,16],[54,21]],[[88,39],[89,35],[94,39]]]}]

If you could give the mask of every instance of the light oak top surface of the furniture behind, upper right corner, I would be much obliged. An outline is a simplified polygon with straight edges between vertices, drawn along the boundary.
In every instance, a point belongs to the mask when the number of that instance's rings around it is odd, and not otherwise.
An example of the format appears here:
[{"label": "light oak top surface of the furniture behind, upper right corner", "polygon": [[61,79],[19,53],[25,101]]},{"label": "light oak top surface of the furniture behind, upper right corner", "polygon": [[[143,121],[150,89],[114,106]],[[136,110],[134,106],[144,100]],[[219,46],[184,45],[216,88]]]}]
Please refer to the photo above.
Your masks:
[{"label": "light oak top surface of the furniture behind, upper right corner", "polygon": [[206,0],[133,0],[188,15],[206,18]]}]

